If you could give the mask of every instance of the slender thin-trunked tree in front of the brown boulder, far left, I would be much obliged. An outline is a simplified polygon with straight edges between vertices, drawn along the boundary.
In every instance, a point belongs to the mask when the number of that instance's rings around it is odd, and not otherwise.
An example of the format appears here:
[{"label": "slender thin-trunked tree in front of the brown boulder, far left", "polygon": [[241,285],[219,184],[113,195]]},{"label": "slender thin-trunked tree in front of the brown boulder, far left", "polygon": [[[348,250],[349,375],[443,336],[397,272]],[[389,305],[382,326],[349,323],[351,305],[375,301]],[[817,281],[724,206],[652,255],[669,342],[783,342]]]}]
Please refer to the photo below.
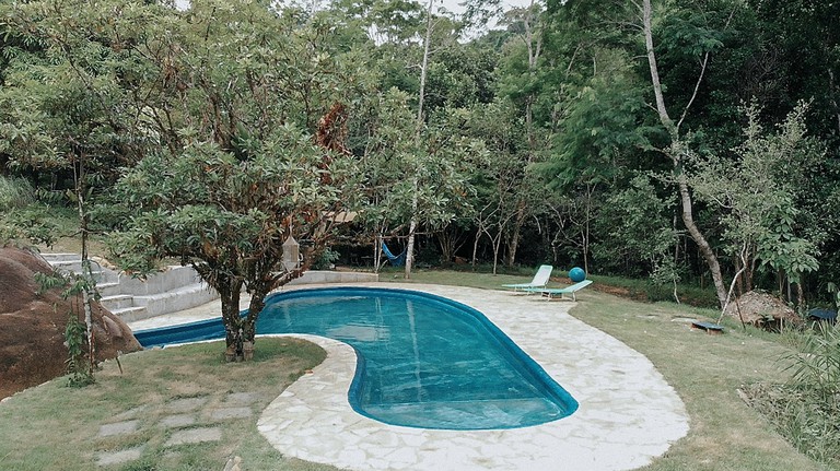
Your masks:
[{"label": "slender thin-trunked tree in front of the brown boulder, far left", "polygon": [[125,62],[107,35],[92,27],[104,12],[70,4],[47,10],[40,2],[5,7],[4,28],[16,42],[4,55],[0,153],[11,168],[70,180],[60,189],[67,189],[78,213],[82,273],[74,286],[82,297],[92,377],[91,303],[98,294],[88,254],[91,200],[114,180],[113,169],[132,163],[144,145],[129,131],[130,114],[124,113],[130,109],[119,83]]}]

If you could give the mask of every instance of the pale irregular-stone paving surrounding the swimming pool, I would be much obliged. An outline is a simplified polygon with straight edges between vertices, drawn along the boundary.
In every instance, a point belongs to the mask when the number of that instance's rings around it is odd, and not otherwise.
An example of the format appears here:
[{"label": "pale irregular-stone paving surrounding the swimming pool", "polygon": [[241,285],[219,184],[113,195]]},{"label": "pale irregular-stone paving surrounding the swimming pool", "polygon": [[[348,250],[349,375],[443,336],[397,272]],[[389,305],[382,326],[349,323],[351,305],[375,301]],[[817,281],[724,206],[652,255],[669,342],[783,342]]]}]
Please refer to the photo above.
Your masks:
[{"label": "pale irregular-stone paving surrounding the swimming pool", "polygon": [[653,364],[570,316],[574,303],[444,285],[351,285],[425,292],[479,310],[580,408],[571,416],[523,428],[446,431],[384,424],[358,414],[347,400],[357,362],[350,345],[293,335],[317,343],[328,356],[275,399],[257,422],[283,455],[349,470],[620,471],[649,464],[688,433],[685,405]]}]

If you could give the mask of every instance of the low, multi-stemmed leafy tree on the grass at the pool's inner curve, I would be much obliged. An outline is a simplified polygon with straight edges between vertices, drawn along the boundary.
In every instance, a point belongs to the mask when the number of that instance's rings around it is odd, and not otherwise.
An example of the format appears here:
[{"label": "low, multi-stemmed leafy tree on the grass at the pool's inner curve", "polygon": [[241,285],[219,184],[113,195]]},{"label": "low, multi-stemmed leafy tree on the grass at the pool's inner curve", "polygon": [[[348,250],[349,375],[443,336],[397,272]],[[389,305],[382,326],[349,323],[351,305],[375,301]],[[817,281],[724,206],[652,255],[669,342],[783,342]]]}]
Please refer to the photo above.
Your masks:
[{"label": "low, multi-stemmed leafy tree on the grass at the pool's inner curve", "polygon": [[[312,260],[284,259],[283,243],[294,236],[324,244],[325,213],[338,210],[349,164],[294,126],[250,143],[245,158],[198,140],[175,157],[150,155],[116,187],[133,215],[112,247],[120,266],[137,273],[164,257],[192,266],[219,292],[229,352],[241,355],[254,342],[266,295]],[[243,290],[252,296],[246,317],[240,316]]]}]

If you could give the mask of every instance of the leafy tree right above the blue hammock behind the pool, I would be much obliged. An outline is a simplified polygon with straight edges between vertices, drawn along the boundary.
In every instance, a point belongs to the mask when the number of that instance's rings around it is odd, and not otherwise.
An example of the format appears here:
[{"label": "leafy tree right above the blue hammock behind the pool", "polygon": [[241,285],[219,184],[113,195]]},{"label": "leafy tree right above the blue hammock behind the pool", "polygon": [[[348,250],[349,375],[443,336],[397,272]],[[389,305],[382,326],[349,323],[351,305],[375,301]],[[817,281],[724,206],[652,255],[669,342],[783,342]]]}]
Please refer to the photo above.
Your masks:
[{"label": "leafy tree right above the blue hammock behind the pool", "polygon": [[486,155],[479,141],[459,136],[455,123],[464,118],[456,110],[424,126],[418,139],[409,101],[396,89],[382,97],[361,158],[366,176],[362,219],[374,231],[389,228],[392,235],[408,229],[408,237],[411,221],[417,234],[418,228],[442,228],[458,212],[468,213],[472,189],[467,174]]}]

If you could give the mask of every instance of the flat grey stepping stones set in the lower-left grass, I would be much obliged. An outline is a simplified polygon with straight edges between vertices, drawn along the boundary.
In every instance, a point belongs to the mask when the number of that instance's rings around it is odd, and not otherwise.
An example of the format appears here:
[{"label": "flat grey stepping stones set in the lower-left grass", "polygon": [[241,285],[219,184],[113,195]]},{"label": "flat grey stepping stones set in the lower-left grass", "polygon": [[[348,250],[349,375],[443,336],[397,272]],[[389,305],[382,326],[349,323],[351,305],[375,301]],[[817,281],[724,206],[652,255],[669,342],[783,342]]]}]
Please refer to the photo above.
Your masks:
[{"label": "flat grey stepping stones set in the lower-left grass", "polygon": [[[220,441],[223,425],[220,425],[219,422],[253,416],[254,410],[250,404],[258,399],[259,396],[255,392],[232,392],[221,398],[200,396],[174,399],[160,407],[163,417],[152,426],[174,431],[164,444],[164,447],[167,448]],[[113,417],[118,422],[100,426],[97,437],[113,438],[142,432],[143,427],[149,425],[143,424],[141,419],[153,414],[153,404],[140,405],[119,413]],[[120,450],[101,450],[96,452],[96,464],[110,467],[135,461],[142,457],[144,449],[145,444]],[[170,452],[177,454],[177,448],[171,449]],[[233,464],[231,461],[228,467]],[[232,469],[238,469],[238,462]]]}]

